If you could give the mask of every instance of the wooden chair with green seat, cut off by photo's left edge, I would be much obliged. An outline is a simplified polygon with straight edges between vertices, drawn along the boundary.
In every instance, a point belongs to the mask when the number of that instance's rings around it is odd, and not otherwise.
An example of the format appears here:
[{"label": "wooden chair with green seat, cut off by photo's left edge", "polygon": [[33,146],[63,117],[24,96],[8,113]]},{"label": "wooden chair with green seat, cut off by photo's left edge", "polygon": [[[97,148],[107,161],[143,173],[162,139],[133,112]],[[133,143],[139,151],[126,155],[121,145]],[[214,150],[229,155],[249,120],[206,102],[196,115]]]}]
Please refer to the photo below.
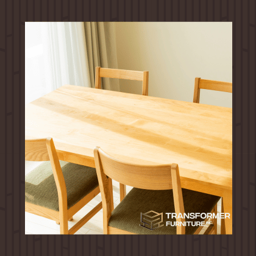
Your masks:
[{"label": "wooden chair with green seat, cut off by photo's left edge", "polygon": [[25,177],[26,212],[56,221],[61,234],[71,235],[101,210],[102,202],[68,230],[68,220],[100,192],[95,168],[61,167],[52,138],[25,140],[25,160],[47,161]]}]

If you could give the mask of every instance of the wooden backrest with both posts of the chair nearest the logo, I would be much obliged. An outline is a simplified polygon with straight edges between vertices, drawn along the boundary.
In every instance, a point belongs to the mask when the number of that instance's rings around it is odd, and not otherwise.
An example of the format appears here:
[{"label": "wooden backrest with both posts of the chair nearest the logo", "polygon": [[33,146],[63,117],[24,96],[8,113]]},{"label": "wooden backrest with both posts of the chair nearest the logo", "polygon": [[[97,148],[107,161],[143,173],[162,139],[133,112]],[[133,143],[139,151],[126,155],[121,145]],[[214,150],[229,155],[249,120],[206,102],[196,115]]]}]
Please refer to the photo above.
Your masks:
[{"label": "wooden backrest with both posts of the chair nearest the logo", "polygon": [[[110,196],[107,176],[124,185],[144,190],[173,190],[175,212],[184,213],[179,166],[172,165],[133,165],[119,161],[106,154],[102,149],[94,148],[94,160],[102,194],[105,216],[104,225],[111,216],[113,197]],[[183,219],[177,219],[183,221]],[[185,233],[185,227],[177,227],[177,233]]]}]

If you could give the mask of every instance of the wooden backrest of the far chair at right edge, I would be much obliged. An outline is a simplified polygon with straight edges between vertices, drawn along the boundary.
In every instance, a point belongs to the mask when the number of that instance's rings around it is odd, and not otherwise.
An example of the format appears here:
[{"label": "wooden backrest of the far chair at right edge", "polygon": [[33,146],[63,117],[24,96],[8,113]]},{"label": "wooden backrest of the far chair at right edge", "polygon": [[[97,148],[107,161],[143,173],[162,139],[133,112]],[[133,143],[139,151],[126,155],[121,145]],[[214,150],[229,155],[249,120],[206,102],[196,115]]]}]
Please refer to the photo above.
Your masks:
[{"label": "wooden backrest of the far chair at right edge", "polygon": [[220,82],[215,80],[205,80],[200,77],[194,79],[194,103],[199,103],[200,89],[214,90],[214,91],[226,91],[232,93],[232,83]]}]

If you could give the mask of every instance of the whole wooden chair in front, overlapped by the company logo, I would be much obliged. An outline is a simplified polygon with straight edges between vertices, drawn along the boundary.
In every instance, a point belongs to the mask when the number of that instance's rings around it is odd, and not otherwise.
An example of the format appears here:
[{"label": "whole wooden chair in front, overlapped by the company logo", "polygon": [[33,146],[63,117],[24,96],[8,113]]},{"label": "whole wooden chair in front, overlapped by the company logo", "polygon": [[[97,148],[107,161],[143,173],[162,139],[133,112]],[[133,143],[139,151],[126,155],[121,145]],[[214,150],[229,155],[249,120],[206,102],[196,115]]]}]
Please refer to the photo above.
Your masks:
[{"label": "whole wooden chair in front, overlapped by the company logo", "polygon": [[[183,218],[166,219],[165,213],[176,213],[178,216],[179,213],[183,215],[183,213],[215,212],[216,214],[217,212],[217,202],[220,197],[182,189],[179,167],[175,163],[155,166],[132,165],[116,160],[98,147],[94,148],[94,160],[102,197],[104,234],[198,234],[204,226],[181,225],[177,226],[177,229],[162,226],[166,221],[179,223],[185,221]],[[107,177],[111,179],[108,180]],[[112,187],[109,183],[112,179],[133,187],[115,210],[112,210],[113,195],[109,190]],[[153,230],[145,228],[145,224],[140,221],[143,213],[162,215],[163,223],[158,222],[158,228]],[[196,221],[204,220],[196,219]],[[217,232],[217,221],[216,219],[212,221],[214,224],[210,224],[205,234]]]}]

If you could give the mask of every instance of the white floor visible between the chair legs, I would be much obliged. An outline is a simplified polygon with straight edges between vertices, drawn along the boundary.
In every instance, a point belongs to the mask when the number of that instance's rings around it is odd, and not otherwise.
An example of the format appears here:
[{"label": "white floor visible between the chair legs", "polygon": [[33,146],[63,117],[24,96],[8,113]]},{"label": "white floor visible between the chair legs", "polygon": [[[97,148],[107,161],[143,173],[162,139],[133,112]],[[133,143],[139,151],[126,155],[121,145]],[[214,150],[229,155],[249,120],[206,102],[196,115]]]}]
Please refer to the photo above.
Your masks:
[{"label": "white floor visible between the chair legs", "polygon": [[[26,173],[30,172],[31,169],[35,168],[37,163],[26,162]],[[132,187],[127,186],[127,193],[132,189]],[[113,180],[113,199],[114,207],[119,204],[119,183]],[[69,229],[76,224],[82,217],[84,217],[91,209],[101,202],[101,194],[94,197],[84,208],[82,208],[76,215],[73,216],[73,221],[69,221]],[[218,202],[218,212],[221,212],[221,201]],[[218,219],[218,234],[220,234],[220,223],[221,220]],[[204,233],[204,230],[207,229],[205,226],[201,233]],[[51,221],[51,219],[46,219],[31,213],[25,213],[25,233],[26,234],[59,234],[60,226]],[[93,218],[90,219],[81,229],[79,229],[76,234],[103,234],[103,213],[102,210],[99,211]]]}]

